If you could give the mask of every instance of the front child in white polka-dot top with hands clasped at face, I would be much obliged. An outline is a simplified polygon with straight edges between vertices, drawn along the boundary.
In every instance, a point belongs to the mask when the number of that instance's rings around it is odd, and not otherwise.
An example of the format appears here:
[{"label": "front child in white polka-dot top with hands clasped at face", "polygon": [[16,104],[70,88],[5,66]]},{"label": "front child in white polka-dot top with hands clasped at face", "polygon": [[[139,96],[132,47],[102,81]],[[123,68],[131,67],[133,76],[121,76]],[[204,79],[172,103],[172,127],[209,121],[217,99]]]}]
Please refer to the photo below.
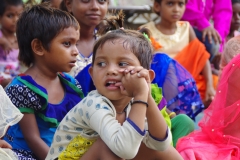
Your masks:
[{"label": "front child in white polka-dot top with hands clasped at face", "polygon": [[101,154],[108,147],[116,159],[181,159],[151,96],[151,60],[151,44],[141,33],[118,29],[103,35],[89,68],[97,90],[60,123],[46,159],[112,159]]}]

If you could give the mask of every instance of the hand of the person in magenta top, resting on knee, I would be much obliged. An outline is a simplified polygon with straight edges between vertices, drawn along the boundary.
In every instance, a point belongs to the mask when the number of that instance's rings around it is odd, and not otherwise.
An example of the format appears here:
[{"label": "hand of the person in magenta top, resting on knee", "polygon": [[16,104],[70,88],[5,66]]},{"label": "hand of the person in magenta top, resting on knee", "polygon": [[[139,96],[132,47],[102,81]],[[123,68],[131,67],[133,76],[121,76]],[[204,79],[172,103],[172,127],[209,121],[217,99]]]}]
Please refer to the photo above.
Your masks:
[{"label": "hand of the person in magenta top, resting on knee", "polygon": [[202,31],[202,40],[203,41],[206,40],[206,36],[208,37],[209,43],[212,43],[212,39],[214,39],[216,44],[221,43],[220,34],[212,26],[209,26]]}]

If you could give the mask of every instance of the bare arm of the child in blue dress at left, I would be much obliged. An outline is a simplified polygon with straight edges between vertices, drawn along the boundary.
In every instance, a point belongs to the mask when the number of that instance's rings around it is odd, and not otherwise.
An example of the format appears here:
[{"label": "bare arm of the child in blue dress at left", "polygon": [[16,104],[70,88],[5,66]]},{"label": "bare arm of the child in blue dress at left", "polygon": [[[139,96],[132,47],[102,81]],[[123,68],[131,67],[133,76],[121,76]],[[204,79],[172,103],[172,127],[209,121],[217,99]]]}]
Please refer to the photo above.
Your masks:
[{"label": "bare arm of the child in blue dress at left", "polygon": [[25,113],[19,125],[31,151],[39,160],[45,160],[49,147],[40,137],[35,115]]}]

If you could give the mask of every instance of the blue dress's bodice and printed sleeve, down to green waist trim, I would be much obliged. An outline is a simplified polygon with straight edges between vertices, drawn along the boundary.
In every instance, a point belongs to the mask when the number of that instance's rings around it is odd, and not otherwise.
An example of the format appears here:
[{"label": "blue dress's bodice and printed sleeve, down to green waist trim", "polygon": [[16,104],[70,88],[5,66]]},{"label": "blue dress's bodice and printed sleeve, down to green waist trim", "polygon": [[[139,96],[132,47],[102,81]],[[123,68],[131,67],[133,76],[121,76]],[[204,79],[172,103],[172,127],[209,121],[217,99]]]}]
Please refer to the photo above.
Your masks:
[{"label": "blue dress's bodice and printed sleeve, down to green waist trim", "polygon": [[48,103],[47,90],[28,75],[17,76],[6,87],[6,93],[21,112],[35,113],[51,126],[58,126],[63,117],[83,98],[78,82],[67,74],[60,74],[65,95],[60,104]]}]

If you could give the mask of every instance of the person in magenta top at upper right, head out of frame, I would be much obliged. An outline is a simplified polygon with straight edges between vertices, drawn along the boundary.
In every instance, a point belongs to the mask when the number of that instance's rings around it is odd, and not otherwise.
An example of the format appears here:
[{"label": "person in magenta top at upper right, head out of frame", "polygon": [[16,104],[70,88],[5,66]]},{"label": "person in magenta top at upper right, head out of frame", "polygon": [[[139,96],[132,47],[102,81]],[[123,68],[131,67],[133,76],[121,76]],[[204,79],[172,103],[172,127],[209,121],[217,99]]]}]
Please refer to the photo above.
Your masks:
[{"label": "person in magenta top at upper right, head out of frame", "polygon": [[219,51],[222,52],[231,17],[231,0],[188,0],[182,20],[189,21],[193,26],[197,38],[205,45],[212,60]]}]

